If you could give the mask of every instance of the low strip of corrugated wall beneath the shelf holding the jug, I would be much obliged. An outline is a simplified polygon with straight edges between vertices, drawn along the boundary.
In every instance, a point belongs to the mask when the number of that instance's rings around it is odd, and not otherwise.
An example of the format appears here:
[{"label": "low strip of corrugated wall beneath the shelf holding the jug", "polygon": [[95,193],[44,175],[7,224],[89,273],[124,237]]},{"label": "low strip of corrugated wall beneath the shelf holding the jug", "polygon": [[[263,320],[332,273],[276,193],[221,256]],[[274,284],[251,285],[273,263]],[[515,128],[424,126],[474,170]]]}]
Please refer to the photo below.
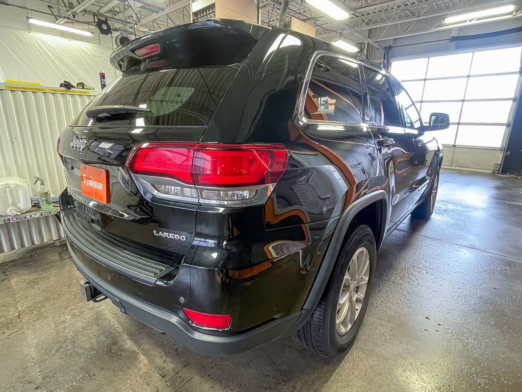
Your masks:
[{"label": "low strip of corrugated wall beneath the shelf holding the jug", "polygon": [[55,215],[0,225],[0,253],[64,238]]}]

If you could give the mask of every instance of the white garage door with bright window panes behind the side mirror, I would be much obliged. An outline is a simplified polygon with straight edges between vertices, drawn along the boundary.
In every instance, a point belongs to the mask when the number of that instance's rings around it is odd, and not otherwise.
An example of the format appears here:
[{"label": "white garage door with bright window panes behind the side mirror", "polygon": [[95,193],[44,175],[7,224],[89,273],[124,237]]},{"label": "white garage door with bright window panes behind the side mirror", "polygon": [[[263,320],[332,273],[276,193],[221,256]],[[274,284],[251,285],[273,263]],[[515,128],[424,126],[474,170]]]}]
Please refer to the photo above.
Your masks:
[{"label": "white garage door with bright window panes behind the side mirror", "polygon": [[519,91],[522,47],[396,60],[422,118],[449,114],[450,127],[434,132],[445,146],[444,166],[498,171]]}]

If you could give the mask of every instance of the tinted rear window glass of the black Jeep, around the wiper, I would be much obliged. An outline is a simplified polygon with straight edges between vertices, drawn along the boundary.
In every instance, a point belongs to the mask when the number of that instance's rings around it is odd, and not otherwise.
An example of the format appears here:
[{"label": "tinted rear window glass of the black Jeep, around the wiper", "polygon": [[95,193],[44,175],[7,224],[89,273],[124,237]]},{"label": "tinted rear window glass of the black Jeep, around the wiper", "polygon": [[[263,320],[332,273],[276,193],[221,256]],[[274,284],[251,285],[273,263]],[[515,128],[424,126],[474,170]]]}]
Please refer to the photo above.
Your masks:
[{"label": "tinted rear window glass of the black Jeep, around the wiper", "polygon": [[73,125],[201,126],[207,125],[238,72],[240,64],[163,69],[123,75],[87,106],[129,105],[150,110],[128,118],[88,118],[85,110]]}]

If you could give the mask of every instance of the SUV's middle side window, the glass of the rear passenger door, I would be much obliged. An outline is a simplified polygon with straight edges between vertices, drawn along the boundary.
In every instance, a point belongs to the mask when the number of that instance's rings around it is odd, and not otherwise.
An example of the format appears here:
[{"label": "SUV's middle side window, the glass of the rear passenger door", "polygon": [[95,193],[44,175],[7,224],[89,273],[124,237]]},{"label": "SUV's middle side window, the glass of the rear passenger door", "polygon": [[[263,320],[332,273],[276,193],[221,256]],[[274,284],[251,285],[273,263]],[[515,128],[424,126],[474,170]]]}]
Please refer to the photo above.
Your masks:
[{"label": "SUV's middle side window, the glass of the rear passenger door", "polygon": [[367,99],[364,100],[365,123],[380,126],[402,126],[395,90],[388,76],[363,66]]}]

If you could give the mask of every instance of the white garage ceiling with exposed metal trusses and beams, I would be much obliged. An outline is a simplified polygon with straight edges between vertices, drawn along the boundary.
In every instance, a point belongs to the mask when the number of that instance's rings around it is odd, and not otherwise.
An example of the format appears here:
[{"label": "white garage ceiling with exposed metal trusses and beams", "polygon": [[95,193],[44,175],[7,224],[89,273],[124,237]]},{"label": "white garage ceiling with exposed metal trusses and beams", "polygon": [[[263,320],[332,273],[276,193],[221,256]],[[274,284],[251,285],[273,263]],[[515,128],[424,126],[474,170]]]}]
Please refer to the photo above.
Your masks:
[{"label": "white garage ceiling with exposed metal trusses and beams", "polygon": [[[38,0],[48,3],[47,0]],[[248,0],[245,0],[248,1]],[[250,0],[254,1],[254,0]],[[260,0],[261,22],[265,26],[276,26],[280,0]],[[326,40],[346,37],[360,40],[354,30],[375,41],[404,37],[428,32],[442,27],[442,19],[448,14],[468,12],[475,9],[502,4],[517,4],[520,0],[334,0],[346,9],[351,17],[333,20],[303,0],[290,2],[289,15],[316,26],[317,36]],[[189,0],[83,0],[68,3],[56,0],[48,3],[56,14],[77,20],[92,20],[92,14],[109,18],[111,25],[148,32],[179,25],[190,20]],[[519,7],[520,8],[520,7]],[[60,19],[69,24],[67,19]]]}]

